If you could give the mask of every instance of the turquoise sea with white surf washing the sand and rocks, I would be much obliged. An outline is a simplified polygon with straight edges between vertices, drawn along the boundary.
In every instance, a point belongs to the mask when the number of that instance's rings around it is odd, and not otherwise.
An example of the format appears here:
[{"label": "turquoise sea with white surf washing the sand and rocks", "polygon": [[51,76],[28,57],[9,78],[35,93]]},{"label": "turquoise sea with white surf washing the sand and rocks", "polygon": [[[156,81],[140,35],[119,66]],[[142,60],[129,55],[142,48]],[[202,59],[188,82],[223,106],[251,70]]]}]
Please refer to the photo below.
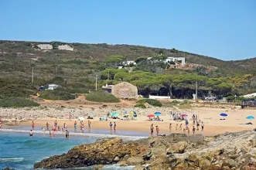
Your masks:
[{"label": "turquoise sea with white surf washing the sand and rocks", "polygon": [[[29,137],[29,127],[13,127],[12,129],[0,130],[0,169],[5,167],[17,170],[34,169],[33,165],[44,158],[67,153],[76,145],[90,144],[99,138],[120,137],[124,140],[136,140],[148,136],[147,133],[143,132],[117,131],[114,133],[108,130],[90,130],[90,133],[85,131],[84,134],[70,131],[70,138],[66,139],[62,132],[56,133],[55,137],[49,137],[48,131],[43,132],[39,128],[33,132],[33,136]],[[102,169],[128,170],[132,168],[134,167],[106,165]],[[76,169],[89,170],[93,167]]]}]

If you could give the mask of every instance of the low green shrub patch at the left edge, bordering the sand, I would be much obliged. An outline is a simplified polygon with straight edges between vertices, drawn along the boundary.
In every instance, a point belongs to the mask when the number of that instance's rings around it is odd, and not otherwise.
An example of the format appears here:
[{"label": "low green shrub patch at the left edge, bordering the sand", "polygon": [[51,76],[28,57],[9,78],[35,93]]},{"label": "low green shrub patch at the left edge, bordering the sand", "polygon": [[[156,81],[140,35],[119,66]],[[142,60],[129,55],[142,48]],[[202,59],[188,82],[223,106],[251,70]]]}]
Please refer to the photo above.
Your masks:
[{"label": "low green shrub patch at the left edge, bordering the sand", "polygon": [[40,104],[25,98],[0,99],[0,107],[38,107]]}]

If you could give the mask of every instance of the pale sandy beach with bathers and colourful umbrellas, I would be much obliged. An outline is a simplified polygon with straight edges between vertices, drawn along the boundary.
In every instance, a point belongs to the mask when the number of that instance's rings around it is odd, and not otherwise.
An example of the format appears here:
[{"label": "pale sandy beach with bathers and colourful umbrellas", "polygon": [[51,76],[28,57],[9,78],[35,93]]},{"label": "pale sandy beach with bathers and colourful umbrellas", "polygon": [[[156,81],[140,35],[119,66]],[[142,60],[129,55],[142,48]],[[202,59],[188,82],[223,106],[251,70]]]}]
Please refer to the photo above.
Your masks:
[{"label": "pale sandy beach with bathers and colourful umbrellas", "polygon": [[[123,114],[125,111],[135,111],[138,117],[135,117],[134,121],[125,121],[123,119]],[[114,111],[120,114],[121,119],[108,119],[108,121],[99,121],[100,117],[106,117],[108,112]],[[154,114],[156,111],[162,113],[160,118],[163,121],[148,121],[148,114]],[[74,121],[79,124],[78,117],[84,117],[84,128],[88,128],[87,125],[87,115],[94,115],[94,119],[91,121],[92,129],[110,129],[110,121],[114,121],[117,124],[117,131],[142,131],[150,132],[150,125],[154,124],[159,126],[160,134],[169,133],[184,133],[183,130],[176,131],[176,124],[178,126],[183,124],[185,128],[185,121],[173,121],[170,114],[180,113],[187,114],[189,118],[189,129],[190,134],[192,133],[193,121],[191,117],[193,114],[197,115],[198,119],[204,122],[204,131],[196,131],[196,134],[203,133],[204,135],[216,135],[223,134],[227,131],[245,131],[254,128],[256,121],[247,120],[247,116],[256,117],[256,110],[242,110],[241,108],[210,108],[210,107],[194,107],[189,110],[175,110],[169,107],[151,107],[147,109],[131,108],[131,107],[38,107],[38,108],[0,108],[0,116],[2,117],[3,127],[12,128],[13,125],[18,126],[31,126],[32,121],[34,121],[35,126],[38,128],[46,128],[46,122],[49,123],[49,127],[53,127],[53,121],[57,120],[60,127],[63,127],[64,123],[67,123],[67,127],[73,128]],[[220,117],[220,113],[226,113],[226,120],[220,120],[224,117]],[[69,121],[69,114],[72,114],[72,120]],[[246,124],[251,122],[252,124]],[[169,124],[172,124],[172,131],[169,131]],[[187,131],[186,131],[187,133]]]}]

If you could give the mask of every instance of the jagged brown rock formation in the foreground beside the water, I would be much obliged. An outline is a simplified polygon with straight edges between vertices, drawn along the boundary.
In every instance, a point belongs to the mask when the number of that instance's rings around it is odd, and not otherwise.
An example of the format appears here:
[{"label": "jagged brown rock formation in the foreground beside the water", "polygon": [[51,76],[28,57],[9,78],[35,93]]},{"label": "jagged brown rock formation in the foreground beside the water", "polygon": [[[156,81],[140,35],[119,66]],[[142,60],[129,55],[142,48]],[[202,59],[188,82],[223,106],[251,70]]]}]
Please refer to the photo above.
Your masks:
[{"label": "jagged brown rock formation in the foreground beside the water", "polygon": [[[34,168],[75,168],[90,165],[135,165],[148,169],[241,169],[256,170],[256,132],[241,131],[214,137],[202,134],[170,134],[123,141],[104,138],[72,148],[36,163]],[[98,166],[101,167],[101,166]]]}]

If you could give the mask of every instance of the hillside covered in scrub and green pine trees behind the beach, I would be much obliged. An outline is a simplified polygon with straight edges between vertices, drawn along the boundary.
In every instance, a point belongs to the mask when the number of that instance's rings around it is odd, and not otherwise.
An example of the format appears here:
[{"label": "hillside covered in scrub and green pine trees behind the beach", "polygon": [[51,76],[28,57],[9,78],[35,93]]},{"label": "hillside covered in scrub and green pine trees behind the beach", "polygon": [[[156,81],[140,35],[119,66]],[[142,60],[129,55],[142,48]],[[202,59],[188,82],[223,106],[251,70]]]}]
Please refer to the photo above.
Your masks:
[{"label": "hillside covered in scrub and green pine trees behind the beach", "polygon": [[[68,43],[73,51],[43,50],[36,47],[41,43],[44,42],[0,41],[0,99],[29,97],[41,85],[47,87],[49,83],[57,83],[61,88],[54,93],[47,93],[48,98],[73,99],[73,93],[95,90],[96,75],[97,87],[105,83],[127,81],[137,86],[138,93],[145,96],[170,95],[173,98],[190,99],[195,93],[196,82],[200,97],[207,96],[209,91],[218,97],[227,97],[256,90],[255,58],[223,61],[177,49],[83,43]],[[67,44],[48,43],[54,47]],[[175,69],[162,61],[152,63],[142,60],[137,66],[129,68],[133,70],[131,73],[125,69],[116,69],[121,59],[145,59],[148,56],[185,57],[186,63],[194,63],[197,67]]]}]

